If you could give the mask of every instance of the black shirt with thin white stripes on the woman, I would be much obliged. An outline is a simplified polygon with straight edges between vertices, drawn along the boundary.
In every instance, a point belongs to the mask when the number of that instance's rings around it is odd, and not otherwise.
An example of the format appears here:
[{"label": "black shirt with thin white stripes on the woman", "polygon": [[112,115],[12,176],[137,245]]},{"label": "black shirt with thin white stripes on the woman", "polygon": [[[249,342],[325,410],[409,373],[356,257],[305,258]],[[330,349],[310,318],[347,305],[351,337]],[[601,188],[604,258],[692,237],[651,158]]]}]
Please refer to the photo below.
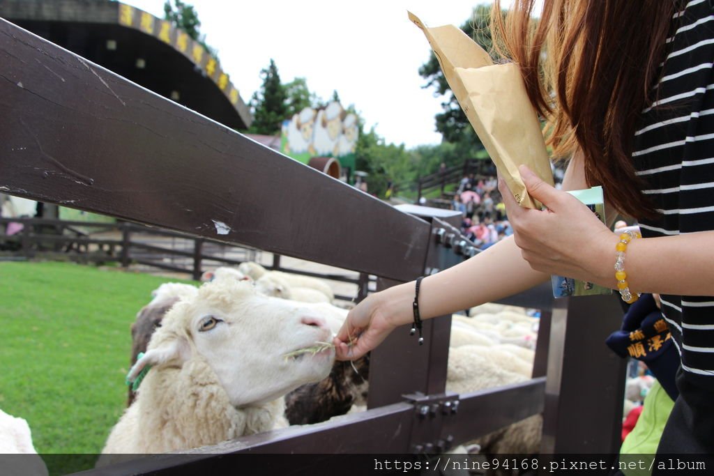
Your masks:
[{"label": "black shirt with thin white stripes on the woman", "polygon": [[[637,175],[647,183],[643,193],[660,213],[658,218],[640,221],[645,238],[714,230],[714,11],[710,2],[691,0],[677,11],[667,43],[654,101],[643,111],[633,148]],[[666,267],[663,263],[664,272]],[[687,378],[714,390],[714,296],[661,298]]]}]

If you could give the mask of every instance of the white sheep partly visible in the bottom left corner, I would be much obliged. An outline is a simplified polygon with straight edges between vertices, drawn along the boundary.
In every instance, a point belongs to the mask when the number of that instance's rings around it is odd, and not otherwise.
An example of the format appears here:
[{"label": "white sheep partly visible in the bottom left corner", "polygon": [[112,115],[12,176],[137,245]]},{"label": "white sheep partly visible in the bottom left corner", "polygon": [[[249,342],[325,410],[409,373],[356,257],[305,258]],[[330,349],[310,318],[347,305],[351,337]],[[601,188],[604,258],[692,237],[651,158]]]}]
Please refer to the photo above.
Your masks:
[{"label": "white sheep partly visible in the bottom left corner", "polygon": [[0,467],[3,475],[47,475],[47,467],[32,444],[32,433],[27,421],[24,418],[8,415],[2,410],[0,410]]}]

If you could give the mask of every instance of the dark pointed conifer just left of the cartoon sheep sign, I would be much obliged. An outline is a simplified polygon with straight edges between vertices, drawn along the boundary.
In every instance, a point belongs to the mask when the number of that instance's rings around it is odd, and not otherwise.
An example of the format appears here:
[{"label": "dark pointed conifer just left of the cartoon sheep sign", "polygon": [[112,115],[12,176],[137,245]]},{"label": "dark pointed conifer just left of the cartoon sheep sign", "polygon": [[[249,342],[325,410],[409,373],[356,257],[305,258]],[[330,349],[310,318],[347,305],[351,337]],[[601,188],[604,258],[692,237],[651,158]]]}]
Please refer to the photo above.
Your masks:
[{"label": "dark pointed conifer just left of the cartoon sheep sign", "polygon": [[261,70],[261,77],[263,85],[251,100],[253,123],[248,132],[272,136],[280,131],[281,123],[288,117],[288,96],[273,59],[268,68]]}]

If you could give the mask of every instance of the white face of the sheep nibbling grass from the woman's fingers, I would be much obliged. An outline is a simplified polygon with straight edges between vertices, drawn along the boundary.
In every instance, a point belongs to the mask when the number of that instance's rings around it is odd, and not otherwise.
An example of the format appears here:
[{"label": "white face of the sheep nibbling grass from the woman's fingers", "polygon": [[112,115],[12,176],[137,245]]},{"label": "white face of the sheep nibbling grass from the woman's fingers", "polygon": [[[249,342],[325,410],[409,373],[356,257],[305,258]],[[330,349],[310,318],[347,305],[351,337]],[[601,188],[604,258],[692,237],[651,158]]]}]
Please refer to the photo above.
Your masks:
[{"label": "white face of the sheep nibbling grass from the woman's fingers", "polygon": [[197,353],[231,404],[243,407],[325,378],[334,361],[332,348],[294,353],[330,342],[332,335],[319,310],[259,295],[249,283],[214,280],[201,286],[195,299],[174,306],[141,360],[181,365]]}]

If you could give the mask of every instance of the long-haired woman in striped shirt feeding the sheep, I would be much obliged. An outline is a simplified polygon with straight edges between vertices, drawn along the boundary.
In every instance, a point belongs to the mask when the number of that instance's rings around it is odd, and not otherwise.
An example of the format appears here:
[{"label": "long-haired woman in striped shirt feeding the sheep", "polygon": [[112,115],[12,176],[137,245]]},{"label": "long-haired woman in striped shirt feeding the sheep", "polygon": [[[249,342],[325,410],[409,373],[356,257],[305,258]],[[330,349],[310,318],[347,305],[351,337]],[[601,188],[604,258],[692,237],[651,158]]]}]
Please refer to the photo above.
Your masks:
[{"label": "long-haired woman in striped shirt feeding the sheep", "polygon": [[[550,275],[616,289],[628,302],[660,293],[680,369],[658,454],[712,455],[713,6],[543,0],[535,22],[535,3],[513,2],[503,19],[496,0],[493,44],[521,69],[533,107],[548,121],[553,156],[569,160],[563,191],[522,166],[528,193],[547,209],[521,208],[500,180],[513,237],[417,281],[421,318],[498,300]],[[642,238],[618,236],[565,192],[596,185],[605,191],[606,215],[637,218]],[[478,279],[493,269],[499,272],[489,280]],[[353,308],[334,340],[337,357],[359,358],[411,323],[415,288],[396,285]]]}]

